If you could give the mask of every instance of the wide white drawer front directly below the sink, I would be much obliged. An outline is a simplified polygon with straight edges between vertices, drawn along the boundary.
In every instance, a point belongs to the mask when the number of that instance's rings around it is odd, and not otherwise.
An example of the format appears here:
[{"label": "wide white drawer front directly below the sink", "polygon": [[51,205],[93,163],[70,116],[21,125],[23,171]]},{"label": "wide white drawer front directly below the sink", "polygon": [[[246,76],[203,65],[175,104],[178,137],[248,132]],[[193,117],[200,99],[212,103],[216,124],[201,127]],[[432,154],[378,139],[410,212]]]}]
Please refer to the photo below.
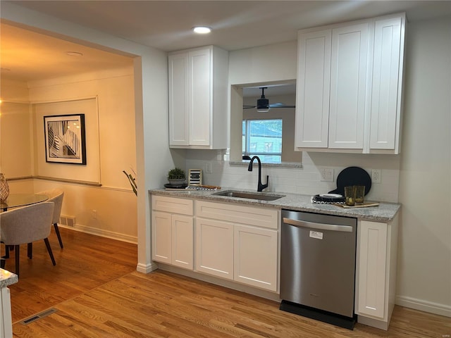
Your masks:
[{"label": "wide white drawer front directly below the sink", "polygon": [[278,229],[279,213],[273,208],[236,206],[206,201],[196,201],[194,207],[198,217]]}]

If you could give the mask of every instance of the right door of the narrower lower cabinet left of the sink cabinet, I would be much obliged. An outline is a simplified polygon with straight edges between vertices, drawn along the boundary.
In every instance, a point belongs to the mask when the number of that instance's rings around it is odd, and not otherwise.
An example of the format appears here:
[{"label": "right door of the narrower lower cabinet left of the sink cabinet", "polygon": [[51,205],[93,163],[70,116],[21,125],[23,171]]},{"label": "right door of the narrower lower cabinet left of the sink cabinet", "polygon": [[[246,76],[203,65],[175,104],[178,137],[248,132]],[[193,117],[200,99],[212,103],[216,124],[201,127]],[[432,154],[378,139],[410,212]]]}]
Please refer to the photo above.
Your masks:
[{"label": "right door of the narrower lower cabinet left of the sink cabinet", "polygon": [[192,217],[172,215],[172,264],[193,269],[194,237]]}]

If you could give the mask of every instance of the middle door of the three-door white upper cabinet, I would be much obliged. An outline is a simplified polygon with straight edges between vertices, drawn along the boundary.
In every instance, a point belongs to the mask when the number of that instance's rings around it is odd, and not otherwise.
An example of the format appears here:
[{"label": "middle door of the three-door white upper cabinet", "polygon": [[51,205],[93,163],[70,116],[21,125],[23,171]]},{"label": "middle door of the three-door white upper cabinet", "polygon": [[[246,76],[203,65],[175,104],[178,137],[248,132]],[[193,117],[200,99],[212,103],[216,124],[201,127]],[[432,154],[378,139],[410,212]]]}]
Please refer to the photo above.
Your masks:
[{"label": "middle door of the three-door white upper cabinet", "polygon": [[332,31],[329,148],[363,149],[368,23]]}]

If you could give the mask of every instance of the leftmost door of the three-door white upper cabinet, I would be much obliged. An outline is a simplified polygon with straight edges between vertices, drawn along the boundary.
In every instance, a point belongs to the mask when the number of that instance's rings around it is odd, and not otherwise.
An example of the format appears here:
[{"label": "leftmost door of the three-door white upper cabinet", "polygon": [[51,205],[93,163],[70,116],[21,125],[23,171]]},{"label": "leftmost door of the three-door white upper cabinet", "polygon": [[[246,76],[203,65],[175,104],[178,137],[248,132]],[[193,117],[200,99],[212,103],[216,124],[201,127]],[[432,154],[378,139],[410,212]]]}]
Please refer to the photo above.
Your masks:
[{"label": "leftmost door of the three-door white upper cabinet", "polygon": [[296,147],[328,147],[331,32],[299,33]]}]

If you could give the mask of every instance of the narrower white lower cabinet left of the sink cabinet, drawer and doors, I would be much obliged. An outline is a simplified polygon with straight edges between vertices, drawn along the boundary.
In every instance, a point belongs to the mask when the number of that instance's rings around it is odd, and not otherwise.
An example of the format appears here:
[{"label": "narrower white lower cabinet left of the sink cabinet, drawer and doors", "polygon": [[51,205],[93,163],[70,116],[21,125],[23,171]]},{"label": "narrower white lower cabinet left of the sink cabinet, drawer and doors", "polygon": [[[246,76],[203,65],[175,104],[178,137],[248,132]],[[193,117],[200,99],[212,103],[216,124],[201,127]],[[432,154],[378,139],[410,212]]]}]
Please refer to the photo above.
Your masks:
[{"label": "narrower white lower cabinet left of the sink cabinet, drawer and doors", "polygon": [[192,270],[192,200],[152,196],[152,260]]}]

